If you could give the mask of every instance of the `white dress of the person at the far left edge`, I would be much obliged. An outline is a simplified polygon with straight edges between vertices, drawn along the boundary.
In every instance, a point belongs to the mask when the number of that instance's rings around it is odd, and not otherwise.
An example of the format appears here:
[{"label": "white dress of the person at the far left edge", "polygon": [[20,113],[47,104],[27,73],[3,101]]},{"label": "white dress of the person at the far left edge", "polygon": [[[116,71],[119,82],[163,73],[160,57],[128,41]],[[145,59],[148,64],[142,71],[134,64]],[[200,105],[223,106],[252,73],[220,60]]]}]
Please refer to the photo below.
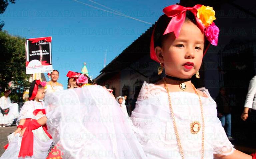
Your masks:
[{"label": "white dress of the person at the far left edge", "polygon": [[2,96],[0,98],[0,107],[1,109],[9,108],[9,112],[6,115],[3,115],[0,112],[0,124],[11,125],[15,118],[19,116],[19,106],[17,103],[11,103],[10,97]]}]

